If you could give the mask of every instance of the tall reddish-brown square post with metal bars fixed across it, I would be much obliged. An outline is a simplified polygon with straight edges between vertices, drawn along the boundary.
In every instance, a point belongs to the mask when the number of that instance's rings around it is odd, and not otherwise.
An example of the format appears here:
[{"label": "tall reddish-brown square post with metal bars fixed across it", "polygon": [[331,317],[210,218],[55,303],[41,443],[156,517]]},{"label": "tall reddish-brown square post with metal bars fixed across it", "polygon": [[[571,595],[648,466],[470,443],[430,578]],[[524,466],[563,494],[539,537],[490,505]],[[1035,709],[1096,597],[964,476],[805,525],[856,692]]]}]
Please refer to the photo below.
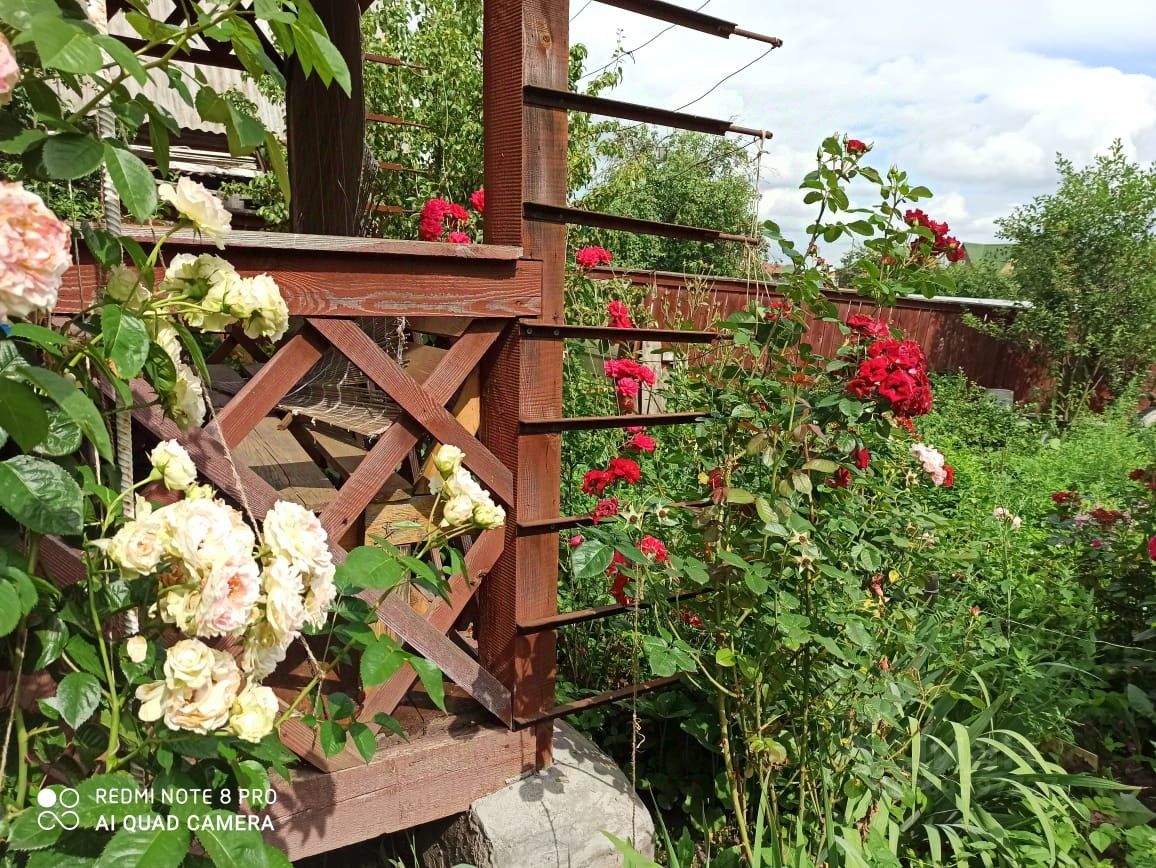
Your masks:
[{"label": "tall reddish-brown square post with metal bars fixed across it", "polygon": [[[541,319],[563,321],[565,227],[523,218],[523,202],[566,201],[566,114],[523,105],[523,87],[568,88],[566,0],[487,0],[483,29],[486,240],[520,244],[542,262]],[[520,418],[562,415],[562,343],[511,328],[488,370],[482,439],[513,472],[516,515],[505,550],[482,586],[482,663],[513,692],[516,718],[554,705],[555,638],[519,637],[517,623],[557,611],[557,534],[519,536],[518,520],[560,511],[562,438],[524,436]],[[538,725],[538,763],[548,765],[551,722]]]}]

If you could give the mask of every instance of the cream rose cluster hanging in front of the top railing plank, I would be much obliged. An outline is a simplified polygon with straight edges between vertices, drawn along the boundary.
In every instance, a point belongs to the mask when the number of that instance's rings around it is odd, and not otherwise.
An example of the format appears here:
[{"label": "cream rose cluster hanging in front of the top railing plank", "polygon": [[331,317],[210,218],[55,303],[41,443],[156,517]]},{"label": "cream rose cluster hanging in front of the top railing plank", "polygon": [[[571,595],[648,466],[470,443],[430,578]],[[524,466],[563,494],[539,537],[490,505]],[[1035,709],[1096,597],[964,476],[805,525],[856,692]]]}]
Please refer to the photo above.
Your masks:
[{"label": "cream rose cluster hanging in front of the top railing plank", "polygon": [[223,332],[239,322],[250,337],[279,341],[289,327],[289,306],[276,281],[267,274],[242,277],[229,262],[210,253],[178,253],[169,262],[160,289],[194,303],[195,310],[184,313],[185,321],[206,332]]}]

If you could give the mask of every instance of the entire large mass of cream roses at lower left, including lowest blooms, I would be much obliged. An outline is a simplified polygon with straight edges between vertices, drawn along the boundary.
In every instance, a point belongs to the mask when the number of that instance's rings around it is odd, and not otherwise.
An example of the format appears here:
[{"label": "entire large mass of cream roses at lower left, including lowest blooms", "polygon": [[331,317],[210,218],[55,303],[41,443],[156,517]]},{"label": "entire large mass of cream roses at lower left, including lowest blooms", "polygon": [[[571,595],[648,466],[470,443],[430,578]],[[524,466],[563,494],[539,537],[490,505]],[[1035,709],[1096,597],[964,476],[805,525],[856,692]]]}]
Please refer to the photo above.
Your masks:
[{"label": "entire large mass of cream roses at lower left, including lowest blooms", "polygon": [[[336,596],[328,537],[312,512],[280,502],[265,517],[258,549],[240,513],[197,484],[179,444],[162,443],[149,458],[153,477],[184,499],[156,510],[139,502],[136,518],[101,548],[126,578],[155,577],[153,614],[194,638],[169,650],[163,682],[138,689],[140,717],[198,733],[228,727],[259,741],[277,707],[259,682],[305,624],[325,623]],[[199,641],[224,636],[243,637],[239,666]],[[140,643],[128,647],[136,662],[146,652]]]}]

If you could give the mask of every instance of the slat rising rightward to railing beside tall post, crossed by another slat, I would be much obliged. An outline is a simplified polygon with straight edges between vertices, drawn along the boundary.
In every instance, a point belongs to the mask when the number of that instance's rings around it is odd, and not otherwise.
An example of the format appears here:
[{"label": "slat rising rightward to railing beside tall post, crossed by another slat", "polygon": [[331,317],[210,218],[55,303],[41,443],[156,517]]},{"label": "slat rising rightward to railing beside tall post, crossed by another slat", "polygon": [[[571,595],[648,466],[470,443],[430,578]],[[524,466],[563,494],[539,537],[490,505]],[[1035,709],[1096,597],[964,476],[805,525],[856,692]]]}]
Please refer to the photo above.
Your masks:
[{"label": "slat rising rightward to railing beside tall post, crossed by another slat", "polygon": [[[443,405],[453,398],[470,371],[497,341],[505,325],[498,320],[475,319],[425,379],[425,393]],[[344,534],[381,488],[381,481],[393,473],[423,433],[420,425],[402,416],[381,435],[356,472],[339,489],[338,496],[321,512],[321,525],[331,536],[340,539]]]}]

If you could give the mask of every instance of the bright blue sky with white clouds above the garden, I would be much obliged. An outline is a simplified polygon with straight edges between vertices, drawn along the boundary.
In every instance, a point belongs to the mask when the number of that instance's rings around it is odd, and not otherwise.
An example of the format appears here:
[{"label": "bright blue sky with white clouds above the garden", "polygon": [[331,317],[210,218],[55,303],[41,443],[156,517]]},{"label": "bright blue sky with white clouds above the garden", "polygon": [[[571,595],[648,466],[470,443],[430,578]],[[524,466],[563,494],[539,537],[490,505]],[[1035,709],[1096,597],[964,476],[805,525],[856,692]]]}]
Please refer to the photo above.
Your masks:
[{"label": "bright blue sky with white clouds above the garden", "polygon": [[[590,50],[587,69],[668,27],[584,5],[571,0],[570,40]],[[1083,164],[1120,139],[1156,161],[1156,0],[707,0],[702,12],[784,40],[687,111],[773,133],[759,210],[788,235],[814,216],[798,186],[832,132],[928,186],[925,209],[964,242],[995,240],[998,217],[1054,190],[1058,151]],[[674,28],[624,59],[613,96],[675,109],[766,47]]]}]

